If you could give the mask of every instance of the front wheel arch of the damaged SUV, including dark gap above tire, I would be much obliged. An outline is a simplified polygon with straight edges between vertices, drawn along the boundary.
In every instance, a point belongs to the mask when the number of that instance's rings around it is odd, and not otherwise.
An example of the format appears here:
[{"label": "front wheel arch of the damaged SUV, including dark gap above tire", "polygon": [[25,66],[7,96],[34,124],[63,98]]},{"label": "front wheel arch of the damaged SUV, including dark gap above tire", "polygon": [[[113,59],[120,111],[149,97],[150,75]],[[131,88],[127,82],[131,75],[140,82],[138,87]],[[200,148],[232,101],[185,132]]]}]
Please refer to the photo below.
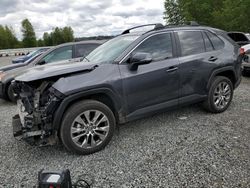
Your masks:
[{"label": "front wheel arch of the damaged SUV, including dark gap above tire", "polygon": [[122,110],[122,104],[120,104],[119,102],[121,100],[119,100],[119,97],[115,95],[112,90],[103,88],[76,93],[63,99],[54,114],[53,129],[55,131],[58,131],[60,129],[62,117],[70,106],[77,103],[78,101],[85,99],[93,99],[104,103],[114,113],[117,122],[125,122],[125,115]]}]

